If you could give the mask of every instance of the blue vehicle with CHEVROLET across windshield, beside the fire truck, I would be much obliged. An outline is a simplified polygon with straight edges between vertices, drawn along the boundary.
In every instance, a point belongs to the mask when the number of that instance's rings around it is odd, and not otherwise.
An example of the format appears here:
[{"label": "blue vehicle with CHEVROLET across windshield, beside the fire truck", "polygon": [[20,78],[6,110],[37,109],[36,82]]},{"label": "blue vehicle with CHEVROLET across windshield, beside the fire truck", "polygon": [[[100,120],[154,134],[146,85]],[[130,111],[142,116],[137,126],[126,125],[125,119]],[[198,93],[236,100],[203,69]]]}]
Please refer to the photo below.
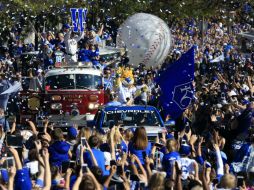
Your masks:
[{"label": "blue vehicle with CHEVROLET across windshield, beside the fire truck", "polygon": [[143,105],[103,107],[97,111],[92,124],[101,133],[106,133],[116,122],[124,129],[145,127],[148,139],[154,139],[158,133],[166,131],[159,111],[153,106]]}]

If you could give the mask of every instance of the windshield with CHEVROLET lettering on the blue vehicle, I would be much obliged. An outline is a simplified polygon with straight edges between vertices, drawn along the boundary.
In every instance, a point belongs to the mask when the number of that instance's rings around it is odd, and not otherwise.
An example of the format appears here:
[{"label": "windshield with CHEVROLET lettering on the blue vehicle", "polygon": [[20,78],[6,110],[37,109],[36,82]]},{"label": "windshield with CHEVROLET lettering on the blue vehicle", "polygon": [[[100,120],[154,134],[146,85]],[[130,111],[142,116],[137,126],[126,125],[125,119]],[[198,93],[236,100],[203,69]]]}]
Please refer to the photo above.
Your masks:
[{"label": "windshield with CHEVROLET lettering on the blue vehicle", "polygon": [[110,127],[115,121],[122,121],[124,126],[161,125],[156,112],[150,110],[116,110],[107,111],[103,127]]}]

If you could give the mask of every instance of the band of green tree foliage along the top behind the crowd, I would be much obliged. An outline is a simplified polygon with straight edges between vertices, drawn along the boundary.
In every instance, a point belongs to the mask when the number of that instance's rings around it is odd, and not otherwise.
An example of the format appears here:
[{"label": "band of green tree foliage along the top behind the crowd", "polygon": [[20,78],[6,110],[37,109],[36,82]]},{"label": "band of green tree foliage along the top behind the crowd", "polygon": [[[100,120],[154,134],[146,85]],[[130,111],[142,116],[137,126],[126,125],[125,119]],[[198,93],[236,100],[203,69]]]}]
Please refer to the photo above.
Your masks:
[{"label": "band of green tree foliage along the top behind the crowd", "polygon": [[[12,28],[38,32],[54,30],[56,24],[70,22],[71,7],[88,8],[88,24],[111,23],[119,26],[128,16],[145,12],[170,23],[172,19],[206,19],[214,15],[228,17],[230,11],[241,12],[246,1],[239,0],[1,0],[0,41],[8,38]],[[254,1],[249,1],[254,7]],[[21,31],[21,29],[20,29]]]}]

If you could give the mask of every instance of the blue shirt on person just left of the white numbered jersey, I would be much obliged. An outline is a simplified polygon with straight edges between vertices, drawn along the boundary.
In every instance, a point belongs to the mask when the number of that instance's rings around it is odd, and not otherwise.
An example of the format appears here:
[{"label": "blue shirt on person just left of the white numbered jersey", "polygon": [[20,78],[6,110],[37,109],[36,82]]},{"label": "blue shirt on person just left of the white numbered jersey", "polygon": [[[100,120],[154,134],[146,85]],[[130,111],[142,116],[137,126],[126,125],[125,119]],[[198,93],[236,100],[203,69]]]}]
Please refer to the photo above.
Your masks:
[{"label": "blue shirt on person just left of the white numbered jersey", "polygon": [[172,175],[174,161],[179,159],[180,159],[180,155],[178,152],[170,152],[163,156],[162,166],[167,173],[167,178],[169,178]]}]

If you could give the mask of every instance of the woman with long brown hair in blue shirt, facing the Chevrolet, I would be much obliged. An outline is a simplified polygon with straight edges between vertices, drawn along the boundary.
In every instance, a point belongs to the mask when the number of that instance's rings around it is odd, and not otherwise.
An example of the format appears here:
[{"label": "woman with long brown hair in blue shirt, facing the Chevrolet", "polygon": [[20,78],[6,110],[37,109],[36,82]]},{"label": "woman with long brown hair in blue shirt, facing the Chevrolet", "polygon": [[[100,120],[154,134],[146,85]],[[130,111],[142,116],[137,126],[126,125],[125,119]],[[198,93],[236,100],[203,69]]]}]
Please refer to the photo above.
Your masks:
[{"label": "woman with long brown hair in blue shirt, facing the Chevrolet", "polygon": [[149,156],[151,154],[151,149],[152,146],[151,143],[148,142],[146,129],[144,127],[137,127],[128,145],[128,150],[131,154],[135,154],[144,165],[143,155]]}]

